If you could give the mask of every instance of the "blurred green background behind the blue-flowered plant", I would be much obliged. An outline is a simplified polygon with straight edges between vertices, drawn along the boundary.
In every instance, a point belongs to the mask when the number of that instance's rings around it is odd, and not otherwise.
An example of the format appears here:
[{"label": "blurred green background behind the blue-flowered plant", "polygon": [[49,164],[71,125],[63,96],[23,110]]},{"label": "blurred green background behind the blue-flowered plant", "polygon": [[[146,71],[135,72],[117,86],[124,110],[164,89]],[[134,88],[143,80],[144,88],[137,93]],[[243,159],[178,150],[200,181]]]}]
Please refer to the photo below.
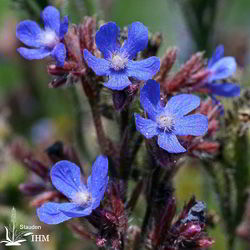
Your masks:
[{"label": "blurred green background behind the blue-flowered plant", "polygon": [[[7,150],[8,143],[16,136],[25,137],[30,146],[37,148],[40,154],[55,140],[60,139],[76,145],[74,121],[79,112],[71,90],[48,89],[48,61],[29,62],[16,52],[16,48],[20,46],[15,37],[16,24],[29,18],[25,9],[17,7],[17,2],[0,1],[0,236],[4,235],[3,226],[8,222],[13,206],[17,209],[20,223],[41,225],[36,219],[35,210],[27,205],[29,198],[24,198],[18,191],[18,185],[27,180],[27,171],[12,159]],[[29,2],[36,10],[36,2],[39,0]],[[84,15],[93,13],[98,19],[112,20],[120,26],[134,21],[143,22],[151,32],[163,33],[164,42],[159,56],[168,47],[179,48],[175,68],[181,66],[197,49],[207,50],[206,55],[209,57],[211,50],[217,44],[223,43],[226,54],[237,59],[241,69],[241,85],[249,86],[249,0],[220,1],[209,48],[198,48],[192,40],[178,0],[58,0],[50,3],[60,6],[62,12],[68,14],[72,22],[76,23],[81,21]],[[88,117],[86,101],[84,98],[81,100],[82,112]],[[95,135],[91,123],[89,119],[85,120],[83,131],[88,133],[87,139],[91,141],[86,145],[86,151],[93,160],[98,147],[92,143]],[[212,184],[206,173],[191,160],[176,176],[175,186],[179,208],[194,194],[197,199],[205,200],[208,209],[216,211],[220,216]],[[137,223],[141,223],[143,216],[140,209],[142,203],[143,201],[136,210],[137,217],[135,216],[134,221]],[[64,225],[42,227],[43,232],[51,235],[49,243],[27,244],[18,249],[95,249],[95,246],[88,245],[88,242],[81,242],[72,236]],[[226,249],[223,224],[219,222],[216,228],[209,231],[216,241],[213,249]],[[5,248],[0,245],[0,249]],[[237,249],[249,248],[246,243],[238,240]]]}]

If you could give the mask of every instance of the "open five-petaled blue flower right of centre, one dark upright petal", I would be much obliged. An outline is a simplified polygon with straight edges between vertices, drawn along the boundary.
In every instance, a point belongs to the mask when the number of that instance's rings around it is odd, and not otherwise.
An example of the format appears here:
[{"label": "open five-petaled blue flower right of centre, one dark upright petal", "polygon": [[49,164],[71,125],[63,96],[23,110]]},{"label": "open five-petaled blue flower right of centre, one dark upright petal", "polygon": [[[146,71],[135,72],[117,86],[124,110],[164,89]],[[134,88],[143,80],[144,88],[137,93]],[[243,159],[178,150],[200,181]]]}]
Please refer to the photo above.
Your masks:
[{"label": "open five-petaled blue flower right of centre, one dark upright petal", "polygon": [[140,101],[148,118],[135,114],[136,129],[147,139],[158,136],[158,145],[169,153],[182,153],[186,149],[176,136],[204,135],[208,129],[208,119],[201,114],[188,113],[200,105],[200,98],[181,94],[172,97],[165,107],[160,104],[160,85],[149,80],[142,88]]}]

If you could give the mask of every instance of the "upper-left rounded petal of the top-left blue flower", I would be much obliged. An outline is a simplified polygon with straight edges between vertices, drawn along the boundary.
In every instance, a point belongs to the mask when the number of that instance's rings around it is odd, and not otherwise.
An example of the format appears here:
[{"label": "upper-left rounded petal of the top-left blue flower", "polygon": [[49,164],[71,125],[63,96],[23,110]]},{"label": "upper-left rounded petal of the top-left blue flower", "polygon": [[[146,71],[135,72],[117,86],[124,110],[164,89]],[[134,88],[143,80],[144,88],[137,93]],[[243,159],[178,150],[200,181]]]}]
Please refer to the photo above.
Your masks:
[{"label": "upper-left rounded petal of the top-left blue flower", "polygon": [[16,37],[25,45],[39,48],[41,43],[41,35],[43,31],[36,22],[26,20],[17,25]]}]

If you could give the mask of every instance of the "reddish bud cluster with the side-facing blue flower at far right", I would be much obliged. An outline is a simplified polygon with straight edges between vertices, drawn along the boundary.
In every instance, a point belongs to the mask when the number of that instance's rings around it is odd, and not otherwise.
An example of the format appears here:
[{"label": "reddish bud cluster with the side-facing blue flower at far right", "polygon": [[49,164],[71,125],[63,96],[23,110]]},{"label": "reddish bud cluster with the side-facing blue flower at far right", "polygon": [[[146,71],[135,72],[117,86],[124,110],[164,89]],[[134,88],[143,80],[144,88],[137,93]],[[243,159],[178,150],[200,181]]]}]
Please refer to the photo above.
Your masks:
[{"label": "reddish bud cluster with the side-facing blue flower at far right", "polygon": [[[176,49],[166,52],[156,76],[166,94],[200,92],[223,97],[240,95],[240,86],[231,82],[237,69],[233,57],[223,57],[224,47],[218,46],[212,58],[206,61],[203,53],[196,53],[175,74],[169,74],[176,61]],[[229,79],[229,80],[228,80]]]}]

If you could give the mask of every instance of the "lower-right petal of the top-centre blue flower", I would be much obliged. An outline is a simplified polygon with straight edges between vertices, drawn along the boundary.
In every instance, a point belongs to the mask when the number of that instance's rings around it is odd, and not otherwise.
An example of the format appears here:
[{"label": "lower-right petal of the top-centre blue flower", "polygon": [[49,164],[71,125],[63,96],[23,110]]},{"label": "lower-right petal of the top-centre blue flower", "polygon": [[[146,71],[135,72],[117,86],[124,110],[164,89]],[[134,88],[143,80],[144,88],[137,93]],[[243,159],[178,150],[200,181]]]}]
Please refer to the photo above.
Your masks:
[{"label": "lower-right petal of the top-centre blue flower", "polygon": [[142,61],[129,60],[127,64],[127,75],[138,80],[147,81],[151,79],[160,69],[160,58],[152,56]]}]

